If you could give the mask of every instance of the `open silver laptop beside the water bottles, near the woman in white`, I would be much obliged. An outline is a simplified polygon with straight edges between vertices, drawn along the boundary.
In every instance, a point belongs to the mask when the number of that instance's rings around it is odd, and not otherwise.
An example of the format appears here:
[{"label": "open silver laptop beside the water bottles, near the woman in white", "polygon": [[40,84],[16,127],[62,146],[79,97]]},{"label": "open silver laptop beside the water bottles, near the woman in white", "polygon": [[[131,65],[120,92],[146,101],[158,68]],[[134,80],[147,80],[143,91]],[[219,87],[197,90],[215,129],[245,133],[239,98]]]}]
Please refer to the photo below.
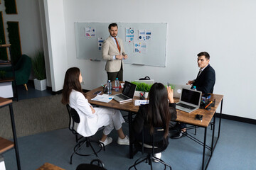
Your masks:
[{"label": "open silver laptop beside the water bottles, near the woman in white", "polygon": [[129,81],[125,81],[124,89],[122,90],[122,94],[114,95],[114,100],[118,101],[119,103],[126,103],[128,101],[132,101],[135,89],[136,89],[135,84],[132,84]]}]

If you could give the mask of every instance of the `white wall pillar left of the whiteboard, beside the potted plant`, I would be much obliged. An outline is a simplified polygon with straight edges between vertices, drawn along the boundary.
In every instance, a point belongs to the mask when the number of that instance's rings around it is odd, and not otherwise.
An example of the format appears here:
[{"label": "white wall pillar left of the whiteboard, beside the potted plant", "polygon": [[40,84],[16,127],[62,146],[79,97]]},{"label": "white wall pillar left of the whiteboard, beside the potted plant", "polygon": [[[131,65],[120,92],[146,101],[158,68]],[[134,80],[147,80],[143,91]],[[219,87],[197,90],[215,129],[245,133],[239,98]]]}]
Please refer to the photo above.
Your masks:
[{"label": "white wall pillar left of the whiteboard, beside the potted plant", "polygon": [[53,91],[59,91],[63,87],[65,71],[68,69],[63,0],[44,0],[43,2],[46,14],[51,85]]}]

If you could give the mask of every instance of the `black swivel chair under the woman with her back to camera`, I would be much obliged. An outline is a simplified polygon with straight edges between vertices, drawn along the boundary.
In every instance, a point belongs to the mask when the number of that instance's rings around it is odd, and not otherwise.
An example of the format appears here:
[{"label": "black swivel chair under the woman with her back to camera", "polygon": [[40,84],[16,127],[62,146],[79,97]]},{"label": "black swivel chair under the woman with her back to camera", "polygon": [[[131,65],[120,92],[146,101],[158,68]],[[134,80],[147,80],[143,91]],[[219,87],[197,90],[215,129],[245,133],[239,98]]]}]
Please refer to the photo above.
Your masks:
[{"label": "black swivel chair under the woman with her back to camera", "polygon": [[[135,137],[137,138],[137,140],[134,142],[134,147],[139,150],[140,152],[142,152],[142,154],[144,154],[144,152],[146,152],[146,157],[140,157],[139,159],[137,159],[134,162],[134,165],[130,166],[129,169],[132,169],[132,167],[134,167],[134,169],[137,169],[136,166],[142,162],[148,163],[151,167],[151,169],[153,169],[152,167],[152,161],[155,160],[157,162],[159,162],[160,164],[164,164],[164,169],[166,169],[166,166],[168,166],[171,170],[171,166],[169,164],[166,164],[162,159],[159,159],[157,157],[154,157],[155,153],[159,153],[159,152],[163,152],[166,147],[168,145],[166,145],[165,147],[155,147],[156,143],[162,143],[164,140],[164,129],[163,128],[154,128],[154,134],[151,135],[149,132],[148,128],[143,128],[142,130],[142,135],[140,135],[139,137]],[[167,137],[168,140],[168,137]],[[145,147],[144,144],[150,144],[150,147]]]}]

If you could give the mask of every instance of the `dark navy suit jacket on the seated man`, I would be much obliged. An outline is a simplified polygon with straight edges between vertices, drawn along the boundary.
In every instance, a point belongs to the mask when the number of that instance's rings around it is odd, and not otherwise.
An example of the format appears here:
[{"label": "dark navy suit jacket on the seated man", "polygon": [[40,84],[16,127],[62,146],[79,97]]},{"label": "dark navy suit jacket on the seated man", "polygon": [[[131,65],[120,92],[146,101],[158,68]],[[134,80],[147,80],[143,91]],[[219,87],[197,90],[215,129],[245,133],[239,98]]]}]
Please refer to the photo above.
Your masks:
[{"label": "dark navy suit jacket on the seated man", "polygon": [[203,94],[212,94],[214,84],[215,71],[213,67],[210,67],[210,64],[208,64],[206,69],[203,69],[203,72],[201,72],[200,76],[196,78],[193,86],[196,86],[196,90],[202,91]]}]

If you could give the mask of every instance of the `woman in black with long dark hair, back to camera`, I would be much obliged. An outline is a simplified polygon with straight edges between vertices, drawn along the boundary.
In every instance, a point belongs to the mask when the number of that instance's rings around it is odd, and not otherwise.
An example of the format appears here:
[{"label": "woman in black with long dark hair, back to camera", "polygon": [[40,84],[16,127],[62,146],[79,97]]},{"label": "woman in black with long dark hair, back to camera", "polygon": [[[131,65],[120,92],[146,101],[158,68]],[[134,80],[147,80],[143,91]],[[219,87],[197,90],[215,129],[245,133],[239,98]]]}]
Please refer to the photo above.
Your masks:
[{"label": "woman in black with long dark hair, back to camera", "polygon": [[[153,135],[154,128],[163,128],[164,136],[155,147],[166,148],[169,145],[169,123],[176,120],[176,103],[174,103],[173,89],[161,83],[155,83],[149,91],[149,104],[139,106],[139,112],[132,122],[135,140],[141,140],[142,130],[146,128]],[[169,100],[169,101],[168,101]],[[151,144],[146,144],[150,146]],[[144,147],[146,147],[144,145]],[[151,146],[150,146],[151,147]],[[161,158],[161,152],[154,155]]]}]

